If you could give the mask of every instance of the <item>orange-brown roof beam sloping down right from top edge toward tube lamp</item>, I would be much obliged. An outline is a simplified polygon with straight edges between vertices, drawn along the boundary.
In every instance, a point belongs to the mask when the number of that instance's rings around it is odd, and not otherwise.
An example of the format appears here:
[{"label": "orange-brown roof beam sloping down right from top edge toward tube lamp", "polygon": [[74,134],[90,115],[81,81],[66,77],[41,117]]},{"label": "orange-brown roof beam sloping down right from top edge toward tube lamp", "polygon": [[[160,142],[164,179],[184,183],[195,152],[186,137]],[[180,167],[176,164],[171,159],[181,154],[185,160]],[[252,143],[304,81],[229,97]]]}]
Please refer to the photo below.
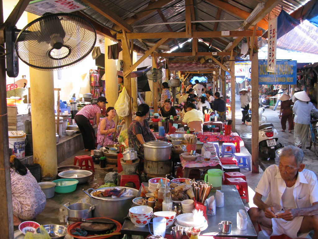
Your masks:
[{"label": "orange-brown roof beam sloping down right from top edge toward tube lamp", "polygon": [[[234,14],[234,15],[238,16],[239,18],[242,18],[242,19],[246,19],[250,15],[249,12],[243,11],[243,10],[239,9],[238,7],[233,6],[232,4],[229,4],[229,3],[226,3],[226,2],[223,2],[223,1],[220,1],[220,0],[206,0],[206,1],[211,3],[211,4],[213,4],[213,5],[215,5],[215,6],[217,6],[218,8],[221,8],[222,10],[230,12],[230,13],[232,13],[232,14]],[[265,17],[265,15],[264,15],[264,17]],[[261,18],[259,20],[258,26],[260,28],[263,28],[264,30],[267,30],[268,22]]]}]

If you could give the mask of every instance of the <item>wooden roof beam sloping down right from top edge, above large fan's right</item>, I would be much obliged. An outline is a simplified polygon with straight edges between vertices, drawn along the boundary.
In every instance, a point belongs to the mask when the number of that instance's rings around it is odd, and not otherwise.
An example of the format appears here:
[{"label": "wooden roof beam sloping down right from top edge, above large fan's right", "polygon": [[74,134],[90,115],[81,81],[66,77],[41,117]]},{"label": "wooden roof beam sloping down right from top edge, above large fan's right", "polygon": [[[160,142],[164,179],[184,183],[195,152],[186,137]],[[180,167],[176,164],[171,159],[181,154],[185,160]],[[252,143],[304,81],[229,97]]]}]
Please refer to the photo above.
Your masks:
[{"label": "wooden roof beam sloping down right from top edge, above large fan's right", "polygon": [[114,11],[110,11],[105,4],[100,2],[99,0],[82,0],[84,3],[89,4],[89,6],[103,15],[105,18],[111,20],[113,23],[118,25],[121,29],[125,29],[129,32],[133,31],[131,25],[129,25],[126,21],[120,18]]}]

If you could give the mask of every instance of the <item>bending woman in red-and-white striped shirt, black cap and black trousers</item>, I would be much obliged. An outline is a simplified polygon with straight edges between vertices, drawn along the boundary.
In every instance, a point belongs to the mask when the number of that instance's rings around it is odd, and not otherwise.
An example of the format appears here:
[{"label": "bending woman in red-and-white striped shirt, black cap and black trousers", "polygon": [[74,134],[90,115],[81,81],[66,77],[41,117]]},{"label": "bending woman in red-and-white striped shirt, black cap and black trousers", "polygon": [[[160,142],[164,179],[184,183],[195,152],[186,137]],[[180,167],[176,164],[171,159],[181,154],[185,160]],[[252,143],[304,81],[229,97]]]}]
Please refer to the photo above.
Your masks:
[{"label": "bending woman in red-and-white striped shirt, black cap and black trousers", "polygon": [[96,124],[99,125],[100,109],[102,109],[106,103],[108,102],[105,97],[98,97],[97,102],[85,105],[75,115],[75,122],[83,136],[85,151],[91,150],[91,154],[93,154],[93,150],[95,149],[95,131],[89,119],[96,116]]}]

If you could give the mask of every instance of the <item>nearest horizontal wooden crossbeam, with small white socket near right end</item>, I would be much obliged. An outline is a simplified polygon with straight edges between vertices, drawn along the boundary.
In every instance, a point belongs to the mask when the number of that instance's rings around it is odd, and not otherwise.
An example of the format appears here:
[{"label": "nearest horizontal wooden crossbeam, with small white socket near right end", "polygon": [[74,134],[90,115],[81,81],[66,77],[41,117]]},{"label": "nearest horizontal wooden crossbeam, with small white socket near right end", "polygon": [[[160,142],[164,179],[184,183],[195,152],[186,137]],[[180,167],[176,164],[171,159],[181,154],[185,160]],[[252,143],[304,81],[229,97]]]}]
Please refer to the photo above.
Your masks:
[{"label": "nearest horizontal wooden crossbeam, with small white socket near right end", "polygon": [[[189,38],[186,32],[162,32],[162,33],[127,33],[127,39],[161,39],[162,36],[165,38]],[[192,32],[192,37],[195,38],[210,38],[210,37],[251,37],[253,31],[230,31],[228,36],[223,36],[221,31],[218,32]],[[256,36],[261,36],[262,31],[256,31]],[[122,39],[123,34],[118,33],[117,39]]]}]

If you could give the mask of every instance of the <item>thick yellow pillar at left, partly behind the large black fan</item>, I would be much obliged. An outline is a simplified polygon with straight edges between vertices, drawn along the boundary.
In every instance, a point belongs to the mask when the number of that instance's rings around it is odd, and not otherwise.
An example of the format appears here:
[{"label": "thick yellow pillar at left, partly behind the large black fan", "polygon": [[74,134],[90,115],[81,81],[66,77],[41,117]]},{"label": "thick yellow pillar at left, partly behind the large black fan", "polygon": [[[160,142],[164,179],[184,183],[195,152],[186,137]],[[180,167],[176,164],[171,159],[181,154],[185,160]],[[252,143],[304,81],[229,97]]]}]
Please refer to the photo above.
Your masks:
[{"label": "thick yellow pillar at left, partly behind the large black fan", "polygon": [[[28,13],[31,22],[37,15]],[[57,175],[53,71],[30,67],[33,161],[41,165],[43,177]]]}]

